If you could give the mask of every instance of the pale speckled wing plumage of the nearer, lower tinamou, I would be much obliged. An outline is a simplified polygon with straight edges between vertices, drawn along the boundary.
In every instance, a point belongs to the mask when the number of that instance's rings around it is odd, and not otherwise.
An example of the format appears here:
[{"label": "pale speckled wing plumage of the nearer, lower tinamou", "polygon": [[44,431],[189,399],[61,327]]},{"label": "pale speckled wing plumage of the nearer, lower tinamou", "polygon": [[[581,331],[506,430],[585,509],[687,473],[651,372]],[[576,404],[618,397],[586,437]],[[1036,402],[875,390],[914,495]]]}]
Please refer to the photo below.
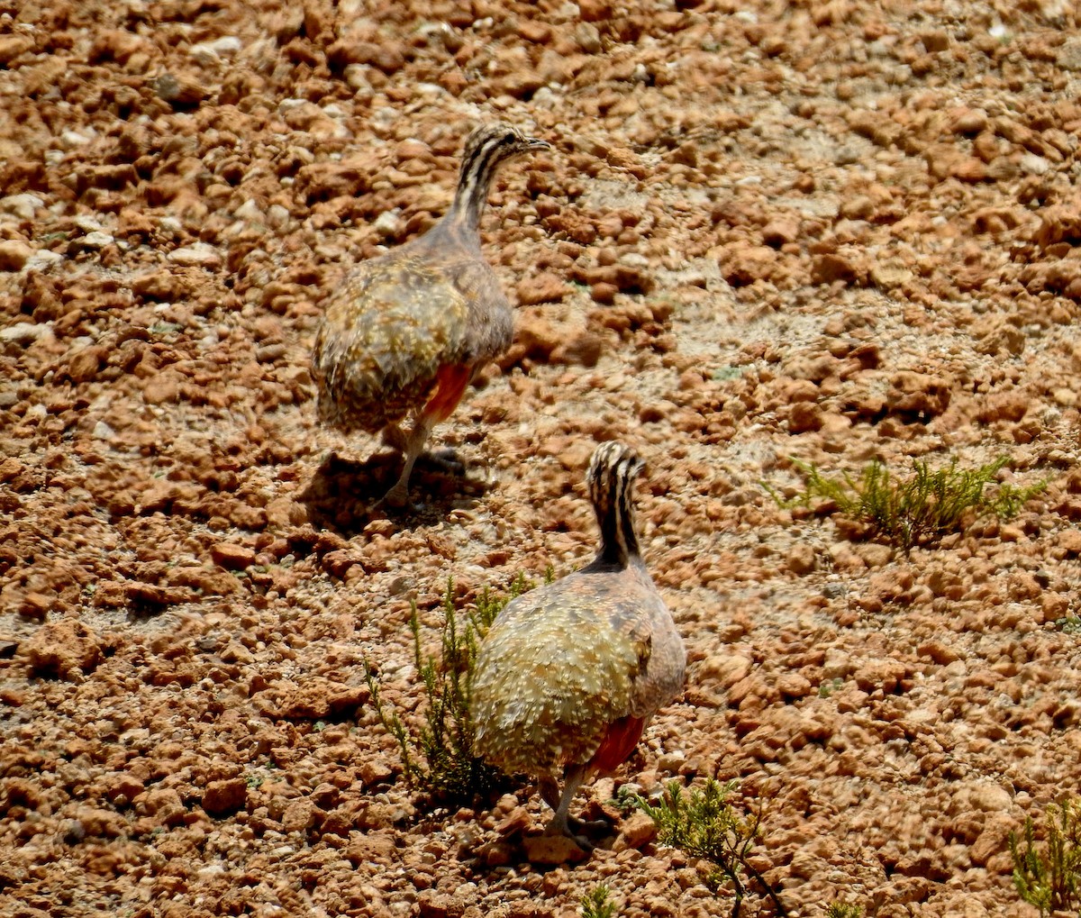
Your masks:
[{"label": "pale speckled wing plumage of the nearer, lower tinamou", "polygon": [[633,704],[643,648],[598,614],[603,584],[572,574],[513,600],[492,625],[472,682],[475,748],[507,772],[589,761]]}]

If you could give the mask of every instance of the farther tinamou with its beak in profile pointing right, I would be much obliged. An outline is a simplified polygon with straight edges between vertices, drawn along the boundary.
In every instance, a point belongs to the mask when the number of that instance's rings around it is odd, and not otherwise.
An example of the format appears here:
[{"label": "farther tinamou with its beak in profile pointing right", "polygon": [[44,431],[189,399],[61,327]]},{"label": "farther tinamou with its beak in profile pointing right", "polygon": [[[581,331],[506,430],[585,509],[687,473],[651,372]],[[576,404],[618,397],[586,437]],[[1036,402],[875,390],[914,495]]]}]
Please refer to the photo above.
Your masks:
[{"label": "farther tinamou with its beak in profile pointing right", "polygon": [[480,217],[496,170],[548,147],[505,124],[473,131],[450,210],[423,236],[359,264],[326,304],[311,359],[319,418],[346,433],[383,433],[404,453],[384,497],[391,506],[406,503],[431,428],[510,346],[510,304],[481,254]]}]

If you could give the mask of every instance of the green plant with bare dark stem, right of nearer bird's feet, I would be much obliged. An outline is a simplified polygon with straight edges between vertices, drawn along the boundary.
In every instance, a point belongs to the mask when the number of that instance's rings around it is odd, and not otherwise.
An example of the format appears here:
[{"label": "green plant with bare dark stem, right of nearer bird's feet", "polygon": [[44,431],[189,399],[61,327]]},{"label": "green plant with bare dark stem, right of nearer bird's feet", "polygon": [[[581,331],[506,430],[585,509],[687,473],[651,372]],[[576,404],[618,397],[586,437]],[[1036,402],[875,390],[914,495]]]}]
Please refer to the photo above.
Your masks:
[{"label": "green plant with bare dark stem, right of nearer bird's feet", "polygon": [[716,895],[725,880],[732,883],[735,894],[732,918],[738,918],[747,891],[745,875],[759,882],[776,914],[785,916],[788,913],[776,891],[748,861],[759,840],[762,811],[759,809],[749,819],[740,817],[729,802],[736,786],[735,781],[722,784],[710,777],[700,789],[692,788],[684,794],[680,782],[671,781],[656,806],[642,798],[635,803],[656,824],[662,844],[679,848],[712,865],[705,876],[710,892]]}]

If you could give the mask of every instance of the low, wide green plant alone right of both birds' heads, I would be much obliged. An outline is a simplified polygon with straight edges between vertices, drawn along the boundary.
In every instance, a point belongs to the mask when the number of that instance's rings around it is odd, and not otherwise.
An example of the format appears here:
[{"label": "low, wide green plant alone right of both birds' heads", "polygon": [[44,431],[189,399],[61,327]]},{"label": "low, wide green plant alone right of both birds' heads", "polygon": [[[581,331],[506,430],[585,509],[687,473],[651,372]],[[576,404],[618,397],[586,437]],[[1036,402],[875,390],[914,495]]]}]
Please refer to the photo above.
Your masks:
[{"label": "low, wide green plant alone right of both birds' heads", "polygon": [[1026,501],[1046,490],[1049,480],[1043,479],[1027,488],[1000,484],[985,493],[1009,462],[1009,456],[1000,456],[978,468],[958,468],[955,458],[932,471],[927,463],[913,460],[912,475],[904,481],[896,480],[879,461],[868,464],[858,479],[848,474],[840,479],[827,478],[814,465],[796,462],[805,479],[802,494],[785,501],[766,490],[784,507],[809,507],[817,498],[831,502],[844,516],[866,527],[869,537],[883,538],[907,553],[960,530],[970,511],[975,517],[1011,519]]}]

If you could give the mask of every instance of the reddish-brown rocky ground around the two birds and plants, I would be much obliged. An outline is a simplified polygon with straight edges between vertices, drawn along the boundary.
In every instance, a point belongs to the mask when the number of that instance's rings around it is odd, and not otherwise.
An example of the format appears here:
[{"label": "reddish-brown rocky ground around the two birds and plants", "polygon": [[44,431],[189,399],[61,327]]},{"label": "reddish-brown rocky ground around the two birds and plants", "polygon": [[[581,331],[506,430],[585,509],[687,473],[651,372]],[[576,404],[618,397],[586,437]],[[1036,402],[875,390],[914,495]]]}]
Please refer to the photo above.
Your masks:
[{"label": "reddish-brown rocky ground around the two birds and plants", "polygon": [[[736,777],[792,916],[1036,914],[1006,835],[1081,776],[1072,4],[0,11],[0,912],[730,914],[640,820],[543,866],[528,785],[418,809],[363,678],[419,716],[411,600],[433,641],[449,577],[587,560],[619,437],[691,664],[583,806]],[[315,423],[321,301],[495,118],[553,147],[484,222],[517,342],[437,430],[468,477],[388,517]],[[761,487],[1003,454],[1045,494],[910,556]]]}]

